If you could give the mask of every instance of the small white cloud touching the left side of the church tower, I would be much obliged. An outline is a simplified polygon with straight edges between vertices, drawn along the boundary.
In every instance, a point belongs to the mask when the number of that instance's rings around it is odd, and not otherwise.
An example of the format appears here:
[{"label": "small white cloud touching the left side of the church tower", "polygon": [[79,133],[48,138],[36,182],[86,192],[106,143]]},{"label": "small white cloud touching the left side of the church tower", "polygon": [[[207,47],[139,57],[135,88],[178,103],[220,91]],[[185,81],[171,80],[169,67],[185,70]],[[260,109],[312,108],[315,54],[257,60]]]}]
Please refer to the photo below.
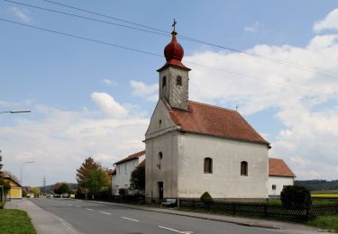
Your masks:
[{"label": "small white cloud touching the left side of the church tower", "polygon": [[142,81],[131,80],[130,85],[133,95],[141,96],[152,102],[159,100],[159,84],[145,85]]}]

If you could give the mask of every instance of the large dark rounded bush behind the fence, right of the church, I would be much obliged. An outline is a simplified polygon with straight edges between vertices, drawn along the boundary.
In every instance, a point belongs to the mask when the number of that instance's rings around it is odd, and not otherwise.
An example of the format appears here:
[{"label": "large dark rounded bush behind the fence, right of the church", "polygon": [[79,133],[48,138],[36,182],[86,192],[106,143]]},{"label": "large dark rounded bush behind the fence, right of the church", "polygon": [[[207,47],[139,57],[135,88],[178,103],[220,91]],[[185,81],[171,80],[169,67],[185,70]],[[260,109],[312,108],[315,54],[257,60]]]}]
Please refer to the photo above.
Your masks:
[{"label": "large dark rounded bush behind the fence, right of the church", "polygon": [[287,209],[306,209],[312,204],[310,191],[300,185],[284,187],[280,193],[280,200]]}]

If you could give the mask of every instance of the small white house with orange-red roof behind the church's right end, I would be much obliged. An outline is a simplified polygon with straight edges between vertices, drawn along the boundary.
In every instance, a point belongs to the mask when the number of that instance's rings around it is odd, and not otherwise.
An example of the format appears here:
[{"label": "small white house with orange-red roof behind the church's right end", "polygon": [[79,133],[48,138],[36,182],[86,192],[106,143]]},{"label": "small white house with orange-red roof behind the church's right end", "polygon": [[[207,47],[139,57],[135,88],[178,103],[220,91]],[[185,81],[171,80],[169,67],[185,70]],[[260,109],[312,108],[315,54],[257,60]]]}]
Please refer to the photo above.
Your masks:
[{"label": "small white house with orange-red roof behind the church's right end", "polygon": [[296,175],[283,159],[269,158],[269,196],[279,196],[287,185],[293,185]]}]

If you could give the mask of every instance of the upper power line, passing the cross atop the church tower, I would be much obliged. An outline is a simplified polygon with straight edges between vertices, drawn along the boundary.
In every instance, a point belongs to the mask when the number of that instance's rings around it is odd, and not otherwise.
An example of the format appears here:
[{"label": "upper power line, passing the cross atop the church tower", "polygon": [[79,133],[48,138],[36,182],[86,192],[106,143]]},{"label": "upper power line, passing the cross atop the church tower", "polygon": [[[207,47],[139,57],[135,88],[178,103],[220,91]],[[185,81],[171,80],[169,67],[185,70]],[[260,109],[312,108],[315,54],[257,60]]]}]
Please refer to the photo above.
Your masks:
[{"label": "upper power line, passing the cross atop the church tower", "polygon": [[[7,1],[7,0],[4,0],[4,1]],[[74,9],[74,10],[77,10],[77,11],[85,12],[85,13],[88,13],[88,14],[96,14],[96,15],[99,15],[99,16],[102,16],[102,17],[105,17],[105,18],[113,19],[115,21],[120,21],[120,22],[123,22],[123,23],[130,23],[132,25],[140,26],[140,27],[143,27],[143,28],[146,28],[146,29],[151,29],[152,33],[153,33],[153,31],[160,31],[160,32],[166,33],[166,34],[169,33],[169,31],[163,31],[163,30],[160,30],[160,29],[157,29],[157,28],[147,26],[145,24],[133,23],[131,21],[126,21],[126,20],[123,20],[123,19],[120,19],[120,18],[116,18],[116,17],[113,17],[113,16],[106,15],[106,14],[99,14],[99,13],[96,13],[96,12],[93,12],[93,11],[88,11],[88,10],[78,8],[78,7],[69,5],[69,4],[60,4],[58,2],[50,1],[50,0],[42,0],[42,1],[48,2],[50,4],[58,4],[58,5],[68,7],[70,9]],[[289,62],[289,61],[278,59],[278,58],[269,58],[267,56],[262,56],[262,55],[259,55],[259,54],[252,54],[252,53],[242,51],[240,49],[232,49],[232,48],[225,47],[225,46],[222,46],[222,45],[217,45],[215,43],[207,42],[205,40],[197,40],[197,39],[194,39],[194,38],[190,38],[190,37],[187,37],[187,36],[184,36],[184,35],[178,35],[178,37],[183,39],[183,40],[189,40],[189,41],[192,41],[192,42],[209,45],[209,46],[212,46],[212,47],[215,47],[215,48],[226,49],[226,50],[229,50],[229,51],[242,53],[242,54],[245,54],[245,55],[253,57],[253,58],[260,58],[260,59],[264,59],[264,60],[269,60],[270,62],[277,63],[277,64],[280,64],[280,65],[285,65],[285,66],[294,67],[294,68],[297,68],[297,69],[306,70],[306,71],[313,72],[313,73],[316,73],[316,74],[319,74],[319,75],[322,75],[322,76],[326,76],[326,77],[329,77],[329,78],[337,78],[336,76],[338,76],[338,74],[333,72],[333,71],[329,71],[329,70],[325,70],[325,69],[321,69],[321,68],[317,68],[317,67],[315,67],[315,68],[306,67],[305,65],[302,65],[302,64],[297,64],[297,63],[294,63],[294,62]],[[330,73],[333,76],[325,74],[324,72]]]}]

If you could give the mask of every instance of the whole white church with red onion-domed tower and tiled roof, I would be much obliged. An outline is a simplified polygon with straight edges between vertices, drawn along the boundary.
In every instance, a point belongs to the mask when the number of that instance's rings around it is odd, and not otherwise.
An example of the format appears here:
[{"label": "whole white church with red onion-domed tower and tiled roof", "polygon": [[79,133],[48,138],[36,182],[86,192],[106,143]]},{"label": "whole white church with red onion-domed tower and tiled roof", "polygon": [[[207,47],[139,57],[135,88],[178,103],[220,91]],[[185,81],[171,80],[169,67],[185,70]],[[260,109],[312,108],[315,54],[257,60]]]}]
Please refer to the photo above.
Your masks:
[{"label": "whole white church with red onion-domed tower and tiled roof", "polygon": [[239,112],[188,100],[190,69],[175,27],[171,34],[144,139],[146,202],[205,192],[215,200],[265,201],[269,142]]}]

